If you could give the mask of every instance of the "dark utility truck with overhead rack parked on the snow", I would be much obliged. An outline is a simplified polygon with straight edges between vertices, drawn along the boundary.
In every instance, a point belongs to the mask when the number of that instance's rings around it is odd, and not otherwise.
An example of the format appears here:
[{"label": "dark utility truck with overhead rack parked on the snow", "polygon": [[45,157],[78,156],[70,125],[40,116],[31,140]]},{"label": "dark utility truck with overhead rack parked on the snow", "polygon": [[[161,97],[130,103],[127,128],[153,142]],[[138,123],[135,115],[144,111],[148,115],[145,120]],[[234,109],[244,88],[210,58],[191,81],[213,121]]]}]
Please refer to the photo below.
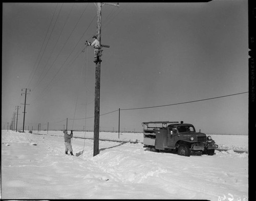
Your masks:
[{"label": "dark utility truck with overhead rack parked on the snow", "polygon": [[218,145],[196,132],[194,125],[181,121],[143,122],[143,144],[151,150],[176,150],[179,155],[190,156],[191,152],[213,155]]}]

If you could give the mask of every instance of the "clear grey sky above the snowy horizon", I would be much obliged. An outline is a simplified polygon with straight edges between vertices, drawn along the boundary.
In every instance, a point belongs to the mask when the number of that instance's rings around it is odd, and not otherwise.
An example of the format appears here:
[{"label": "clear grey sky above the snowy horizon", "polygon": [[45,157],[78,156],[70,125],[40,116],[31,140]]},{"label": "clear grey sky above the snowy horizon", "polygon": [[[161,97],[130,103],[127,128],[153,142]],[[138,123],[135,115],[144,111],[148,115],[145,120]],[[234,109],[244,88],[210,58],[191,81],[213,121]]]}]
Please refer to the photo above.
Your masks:
[{"label": "clear grey sky above the snowy horizon", "polygon": [[[102,7],[100,130],[184,121],[205,133],[248,133],[248,2]],[[93,130],[94,3],[3,3],[2,128]],[[23,91],[24,93],[24,91]],[[131,109],[153,107],[144,109]],[[130,110],[124,110],[130,109]],[[117,110],[117,111],[116,111]],[[17,111],[17,110],[16,110]],[[113,113],[111,113],[113,111]],[[110,113],[110,114],[106,114]],[[106,115],[103,115],[106,114]],[[73,120],[80,119],[80,120]]]}]

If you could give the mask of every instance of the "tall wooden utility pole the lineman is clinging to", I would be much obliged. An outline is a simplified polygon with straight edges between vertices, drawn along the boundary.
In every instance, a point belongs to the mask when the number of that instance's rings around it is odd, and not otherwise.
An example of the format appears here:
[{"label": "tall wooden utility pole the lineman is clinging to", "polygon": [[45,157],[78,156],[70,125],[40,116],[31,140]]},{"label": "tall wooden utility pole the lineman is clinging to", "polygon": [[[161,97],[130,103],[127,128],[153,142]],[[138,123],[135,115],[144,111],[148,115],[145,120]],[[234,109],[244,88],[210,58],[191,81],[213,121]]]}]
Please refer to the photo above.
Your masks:
[{"label": "tall wooden utility pole the lineman is clinging to", "polygon": [[[103,5],[104,4],[119,7],[118,4],[103,3]],[[101,7],[102,7],[102,3],[97,3],[97,39],[101,47],[109,48],[109,46],[101,45]],[[96,62],[96,68],[95,68],[94,146],[93,146],[94,157],[95,155],[99,154],[100,63],[101,63],[100,61]]]}]

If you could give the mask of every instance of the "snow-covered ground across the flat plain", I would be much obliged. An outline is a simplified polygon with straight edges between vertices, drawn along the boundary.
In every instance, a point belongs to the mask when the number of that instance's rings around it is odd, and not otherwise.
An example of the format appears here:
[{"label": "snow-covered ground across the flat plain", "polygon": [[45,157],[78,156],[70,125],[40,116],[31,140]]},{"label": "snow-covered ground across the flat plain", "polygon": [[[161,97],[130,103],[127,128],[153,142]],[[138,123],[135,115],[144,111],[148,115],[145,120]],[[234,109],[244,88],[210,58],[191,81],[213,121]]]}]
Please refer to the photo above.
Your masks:
[{"label": "snow-covered ground across the flat plain", "polygon": [[[37,133],[37,132],[35,132]],[[142,133],[74,132],[65,154],[61,131],[44,135],[2,130],[2,199],[247,200],[248,136],[211,135],[220,148],[182,157],[143,148]],[[138,142],[138,143],[131,143]]]}]

